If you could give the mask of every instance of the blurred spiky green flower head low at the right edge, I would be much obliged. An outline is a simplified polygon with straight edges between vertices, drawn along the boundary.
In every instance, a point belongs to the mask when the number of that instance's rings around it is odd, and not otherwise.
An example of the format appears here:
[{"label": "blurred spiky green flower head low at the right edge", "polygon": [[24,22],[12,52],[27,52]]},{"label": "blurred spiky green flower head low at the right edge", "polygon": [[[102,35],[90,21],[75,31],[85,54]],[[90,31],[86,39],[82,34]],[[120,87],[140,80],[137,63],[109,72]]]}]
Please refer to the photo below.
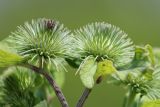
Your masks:
[{"label": "blurred spiky green flower head low at the right edge", "polygon": [[[118,72],[113,77],[116,79],[115,83],[129,88],[131,92],[139,94],[141,98],[150,100],[160,98],[160,67],[130,69]],[[113,80],[110,82],[113,83]]]}]

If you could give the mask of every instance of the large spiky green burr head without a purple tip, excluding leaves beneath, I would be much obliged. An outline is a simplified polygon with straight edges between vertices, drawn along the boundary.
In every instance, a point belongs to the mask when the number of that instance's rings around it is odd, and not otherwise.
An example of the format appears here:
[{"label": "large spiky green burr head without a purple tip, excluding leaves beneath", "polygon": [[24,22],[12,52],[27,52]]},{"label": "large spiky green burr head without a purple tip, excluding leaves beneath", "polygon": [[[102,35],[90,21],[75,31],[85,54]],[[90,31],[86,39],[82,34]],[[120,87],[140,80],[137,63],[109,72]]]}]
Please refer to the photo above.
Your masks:
[{"label": "large spiky green burr head without a purple tip, excluding leaves beneath", "polygon": [[89,55],[111,60],[116,67],[129,63],[134,57],[134,45],[127,34],[108,23],[92,23],[74,34],[78,57]]}]

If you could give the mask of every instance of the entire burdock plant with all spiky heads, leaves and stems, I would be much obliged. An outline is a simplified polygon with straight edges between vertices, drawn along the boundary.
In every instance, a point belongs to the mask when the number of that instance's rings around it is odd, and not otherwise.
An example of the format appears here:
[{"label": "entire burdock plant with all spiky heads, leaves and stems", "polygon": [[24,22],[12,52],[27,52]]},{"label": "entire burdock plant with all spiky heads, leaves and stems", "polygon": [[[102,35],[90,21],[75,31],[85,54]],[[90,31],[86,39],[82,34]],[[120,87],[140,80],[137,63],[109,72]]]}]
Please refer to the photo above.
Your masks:
[{"label": "entire burdock plant with all spiky heads, leaves and stems", "polygon": [[159,49],[136,46],[111,24],[91,23],[71,32],[58,21],[40,18],[18,26],[3,43],[7,48],[0,48],[0,68],[5,71],[0,74],[0,106],[52,107],[52,88],[61,106],[69,107],[59,84],[69,65],[77,68],[85,87],[76,107],[83,107],[103,81],[127,89],[123,107],[159,104]]}]

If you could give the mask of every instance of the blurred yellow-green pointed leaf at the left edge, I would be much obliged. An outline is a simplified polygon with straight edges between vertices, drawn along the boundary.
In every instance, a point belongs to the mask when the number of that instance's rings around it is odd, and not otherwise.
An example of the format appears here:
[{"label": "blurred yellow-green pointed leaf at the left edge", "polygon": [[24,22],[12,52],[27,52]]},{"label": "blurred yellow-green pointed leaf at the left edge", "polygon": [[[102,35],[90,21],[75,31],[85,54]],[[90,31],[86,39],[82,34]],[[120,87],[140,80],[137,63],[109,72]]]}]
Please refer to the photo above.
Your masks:
[{"label": "blurred yellow-green pointed leaf at the left edge", "polygon": [[26,59],[13,53],[0,50],[0,67],[5,68],[17,64],[21,64]]}]

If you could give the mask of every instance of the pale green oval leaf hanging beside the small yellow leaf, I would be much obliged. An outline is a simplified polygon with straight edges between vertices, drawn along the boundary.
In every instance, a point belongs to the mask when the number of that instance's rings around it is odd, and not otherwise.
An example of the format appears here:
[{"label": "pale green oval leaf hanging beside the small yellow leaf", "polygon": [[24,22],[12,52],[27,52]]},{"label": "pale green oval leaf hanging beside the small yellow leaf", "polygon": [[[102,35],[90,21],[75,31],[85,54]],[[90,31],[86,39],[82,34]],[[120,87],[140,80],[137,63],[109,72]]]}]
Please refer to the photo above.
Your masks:
[{"label": "pale green oval leaf hanging beside the small yellow leaf", "polygon": [[89,56],[80,66],[79,74],[83,85],[89,89],[94,86],[94,75],[97,69],[97,63],[92,56]]}]

